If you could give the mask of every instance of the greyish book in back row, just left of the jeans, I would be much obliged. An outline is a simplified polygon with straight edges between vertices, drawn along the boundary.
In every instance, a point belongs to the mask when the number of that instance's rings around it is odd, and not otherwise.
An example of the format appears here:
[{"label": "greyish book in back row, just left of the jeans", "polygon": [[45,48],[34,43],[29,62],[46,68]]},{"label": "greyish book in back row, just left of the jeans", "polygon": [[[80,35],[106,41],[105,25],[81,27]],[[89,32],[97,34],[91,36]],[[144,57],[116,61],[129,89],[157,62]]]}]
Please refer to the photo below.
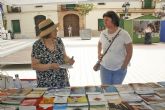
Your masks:
[{"label": "greyish book in back row, just left of the jeans", "polygon": [[101,94],[103,92],[100,86],[86,86],[86,94]]}]

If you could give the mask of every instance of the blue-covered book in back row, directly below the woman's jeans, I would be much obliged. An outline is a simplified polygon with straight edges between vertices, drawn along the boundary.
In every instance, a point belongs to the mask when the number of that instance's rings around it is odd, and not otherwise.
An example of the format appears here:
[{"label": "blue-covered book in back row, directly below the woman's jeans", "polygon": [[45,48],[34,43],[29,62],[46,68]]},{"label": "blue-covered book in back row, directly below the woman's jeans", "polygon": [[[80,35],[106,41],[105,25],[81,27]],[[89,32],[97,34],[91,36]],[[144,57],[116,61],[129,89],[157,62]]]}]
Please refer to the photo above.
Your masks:
[{"label": "blue-covered book in back row, directly below the woman's jeans", "polygon": [[118,91],[115,86],[108,85],[108,86],[102,86],[103,88],[103,94],[118,94]]}]

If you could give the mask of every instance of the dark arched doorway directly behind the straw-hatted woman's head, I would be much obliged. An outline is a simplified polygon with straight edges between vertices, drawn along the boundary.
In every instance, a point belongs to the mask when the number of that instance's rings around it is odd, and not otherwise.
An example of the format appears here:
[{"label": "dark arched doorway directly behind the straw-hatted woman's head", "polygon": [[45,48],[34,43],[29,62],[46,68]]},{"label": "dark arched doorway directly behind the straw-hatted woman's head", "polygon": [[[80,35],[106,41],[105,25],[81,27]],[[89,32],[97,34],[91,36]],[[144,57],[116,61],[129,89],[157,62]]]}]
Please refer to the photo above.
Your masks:
[{"label": "dark arched doorway directly behind the straw-hatted woman's head", "polygon": [[38,24],[45,20],[46,19],[46,16],[44,15],[37,15],[34,17],[34,22],[35,22],[35,30],[36,30],[36,36],[39,35],[39,28],[38,28]]}]

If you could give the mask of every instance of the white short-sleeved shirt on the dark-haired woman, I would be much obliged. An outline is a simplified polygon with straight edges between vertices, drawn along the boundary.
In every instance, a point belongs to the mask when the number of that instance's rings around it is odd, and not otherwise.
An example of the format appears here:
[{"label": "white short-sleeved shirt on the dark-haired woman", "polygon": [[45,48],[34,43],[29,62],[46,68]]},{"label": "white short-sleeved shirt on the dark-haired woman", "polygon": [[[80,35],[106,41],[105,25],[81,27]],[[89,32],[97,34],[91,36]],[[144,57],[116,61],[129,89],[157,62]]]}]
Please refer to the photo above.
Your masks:
[{"label": "white short-sleeved shirt on the dark-haired woman", "polygon": [[100,34],[100,42],[102,44],[103,53],[108,48],[112,38],[119,32],[119,35],[112,43],[111,47],[109,48],[106,55],[103,57],[101,65],[104,66],[108,70],[118,70],[121,68],[122,64],[124,63],[126,57],[126,48],[125,45],[132,43],[132,39],[127,31],[118,28],[118,30],[113,33],[109,34],[108,30],[104,30]]}]

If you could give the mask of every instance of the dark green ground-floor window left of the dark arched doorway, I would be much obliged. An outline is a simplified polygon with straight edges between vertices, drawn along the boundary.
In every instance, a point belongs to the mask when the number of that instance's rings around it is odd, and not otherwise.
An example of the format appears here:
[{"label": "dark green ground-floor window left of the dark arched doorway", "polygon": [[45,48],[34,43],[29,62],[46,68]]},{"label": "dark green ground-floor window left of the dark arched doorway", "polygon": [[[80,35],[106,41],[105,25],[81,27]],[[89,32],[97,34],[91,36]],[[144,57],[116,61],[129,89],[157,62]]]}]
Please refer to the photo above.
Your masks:
[{"label": "dark green ground-floor window left of the dark arched doorway", "polygon": [[12,28],[14,33],[21,33],[20,21],[12,20]]}]

